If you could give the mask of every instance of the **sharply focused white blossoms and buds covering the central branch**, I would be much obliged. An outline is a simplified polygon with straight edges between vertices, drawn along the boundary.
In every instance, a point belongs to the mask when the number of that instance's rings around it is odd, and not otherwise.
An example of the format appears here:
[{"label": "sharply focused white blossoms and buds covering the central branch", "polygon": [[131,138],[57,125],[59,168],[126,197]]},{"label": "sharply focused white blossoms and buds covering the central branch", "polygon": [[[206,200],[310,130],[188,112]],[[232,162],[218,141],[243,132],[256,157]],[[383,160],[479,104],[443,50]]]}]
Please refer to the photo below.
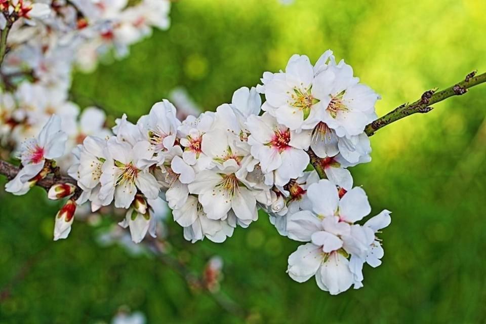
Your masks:
[{"label": "sharply focused white blossoms and buds covering the central branch", "polygon": [[[192,242],[223,242],[256,221],[261,208],[281,235],[307,242],[289,257],[294,280],[315,275],[331,294],[360,288],[363,264],[381,263],[376,235],[390,223],[386,210],[356,223],[371,207],[347,169],[371,160],[364,130],[376,118],[377,99],[327,51],[315,65],[294,55],[285,72],[265,72],[262,85],[238,89],[214,112],[180,121],[163,100],[136,123],[124,115],[111,135],[86,136],[72,151],[68,174],[78,189],[51,188],[52,198],[70,196],[56,217],[55,239],[67,237],[75,206],[87,202],[93,211],[125,209],[120,225],[135,242],[155,235],[152,206],[160,198]],[[60,118],[51,117],[22,145],[23,169],[7,191],[25,193],[46,166],[49,172],[67,138]],[[307,171],[311,162],[319,173]]]}]

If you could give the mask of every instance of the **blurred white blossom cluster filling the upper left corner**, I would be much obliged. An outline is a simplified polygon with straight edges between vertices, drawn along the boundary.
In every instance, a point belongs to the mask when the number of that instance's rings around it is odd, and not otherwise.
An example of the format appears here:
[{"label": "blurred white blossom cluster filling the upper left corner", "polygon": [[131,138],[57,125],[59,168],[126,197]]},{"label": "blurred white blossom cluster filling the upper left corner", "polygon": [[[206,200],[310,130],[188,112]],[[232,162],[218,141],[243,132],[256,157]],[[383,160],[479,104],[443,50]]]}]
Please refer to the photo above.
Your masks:
[{"label": "blurred white blossom cluster filling the upper left corner", "polygon": [[[152,27],[169,27],[169,10],[169,0],[0,0],[0,32],[8,34],[0,68],[0,144],[19,150],[53,114],[61,119],[68,150],[86,136],[110,135],[102,110],[80,113],[70,100],[72,71],[92,71],[112,53],[127,55]],[[66,171],[72,159],[58,164]]]}]

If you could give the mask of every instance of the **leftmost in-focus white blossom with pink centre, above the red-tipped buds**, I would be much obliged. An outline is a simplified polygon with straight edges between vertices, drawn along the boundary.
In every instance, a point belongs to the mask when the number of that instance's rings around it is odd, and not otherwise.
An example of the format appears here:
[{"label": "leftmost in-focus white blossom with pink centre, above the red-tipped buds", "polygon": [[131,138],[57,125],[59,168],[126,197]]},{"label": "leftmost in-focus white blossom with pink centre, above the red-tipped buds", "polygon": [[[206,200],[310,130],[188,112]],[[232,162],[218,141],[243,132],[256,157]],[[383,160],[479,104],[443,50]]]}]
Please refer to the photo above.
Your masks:
[{"label": "leftmost in-focus white blossom with pink centre, above the red-tipped buds", "polygon": [[20,148],[20,160],[23,168],[5,185],[5,190],[13,194],[25,194],[31,181],[44,168],[46,159],[53,159],[64,154],[67,135],[61,131],[61,119],[53,115],[36,138],[28,139]]}]

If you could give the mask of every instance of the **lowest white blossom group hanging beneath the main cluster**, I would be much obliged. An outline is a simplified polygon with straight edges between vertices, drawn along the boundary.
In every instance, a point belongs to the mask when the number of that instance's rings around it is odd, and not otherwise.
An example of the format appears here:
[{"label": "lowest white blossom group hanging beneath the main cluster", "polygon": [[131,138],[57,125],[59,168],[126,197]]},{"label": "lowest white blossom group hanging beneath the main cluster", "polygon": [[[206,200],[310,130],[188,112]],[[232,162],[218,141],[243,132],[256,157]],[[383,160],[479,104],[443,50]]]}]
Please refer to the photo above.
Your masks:
[{"label": "lowest white blossom group hanging beneath the main cluster", "polygon": [[297,212],[288,218],[288,236],[309,242],[290,255],[289,275],[298,282],[315,275],[317,286],[331,295],[344,292],[353,284],[360,288],[362,260],[372,252],[374,232],[389,224],[381,220],[389,212],[376,216],[376,221],[370,220],[372,226],[377,224],[374,230],[354,224],[371,212],[361,188],[355,187],[340,198],[335,184],[320,180],[309,186],[307,195],[312,211]]}]

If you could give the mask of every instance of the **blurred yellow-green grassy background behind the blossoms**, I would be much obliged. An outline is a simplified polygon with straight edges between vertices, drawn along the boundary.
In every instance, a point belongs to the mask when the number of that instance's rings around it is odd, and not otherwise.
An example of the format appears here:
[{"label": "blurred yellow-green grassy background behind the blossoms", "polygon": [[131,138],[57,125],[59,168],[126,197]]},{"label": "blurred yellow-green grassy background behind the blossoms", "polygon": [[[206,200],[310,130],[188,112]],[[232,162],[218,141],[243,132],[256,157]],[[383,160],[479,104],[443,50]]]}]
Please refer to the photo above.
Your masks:
[{"label": "blurred yellow-green grassy background behind the blossoms", "polygon": [[[75,75],[73,92],[132,120],[176,86],[215,109],[264,71],[284,69],[292,54],[314,62],[331,48],[382,95],[382,115],[486,71],[484,13],[481,0],[181,0],[170,30],[155,31],[123,61]],[[212,255],[224,259],[222,291],[248,311],[245,319],[192,292],[155,259],[100,248],[83,222],[53,242],[59,206],[40,189],[27,197],[1,192],[0,289],[10,295],[0,322],[109,321],[120,305],[141,310],[149,323],[486,322],[485,108],[481,85],[372,137],[373,162],[351,171],[373,213],[393,214],[382,234],[383,265],[366,267],[360,290],[330,296],[313,279],[291,280],[287,257],[299,243],[279,236],[264,215],[220,245],[184,241],[169,219],[174,251],[184,251],[177,257],[195,272]]]}]

